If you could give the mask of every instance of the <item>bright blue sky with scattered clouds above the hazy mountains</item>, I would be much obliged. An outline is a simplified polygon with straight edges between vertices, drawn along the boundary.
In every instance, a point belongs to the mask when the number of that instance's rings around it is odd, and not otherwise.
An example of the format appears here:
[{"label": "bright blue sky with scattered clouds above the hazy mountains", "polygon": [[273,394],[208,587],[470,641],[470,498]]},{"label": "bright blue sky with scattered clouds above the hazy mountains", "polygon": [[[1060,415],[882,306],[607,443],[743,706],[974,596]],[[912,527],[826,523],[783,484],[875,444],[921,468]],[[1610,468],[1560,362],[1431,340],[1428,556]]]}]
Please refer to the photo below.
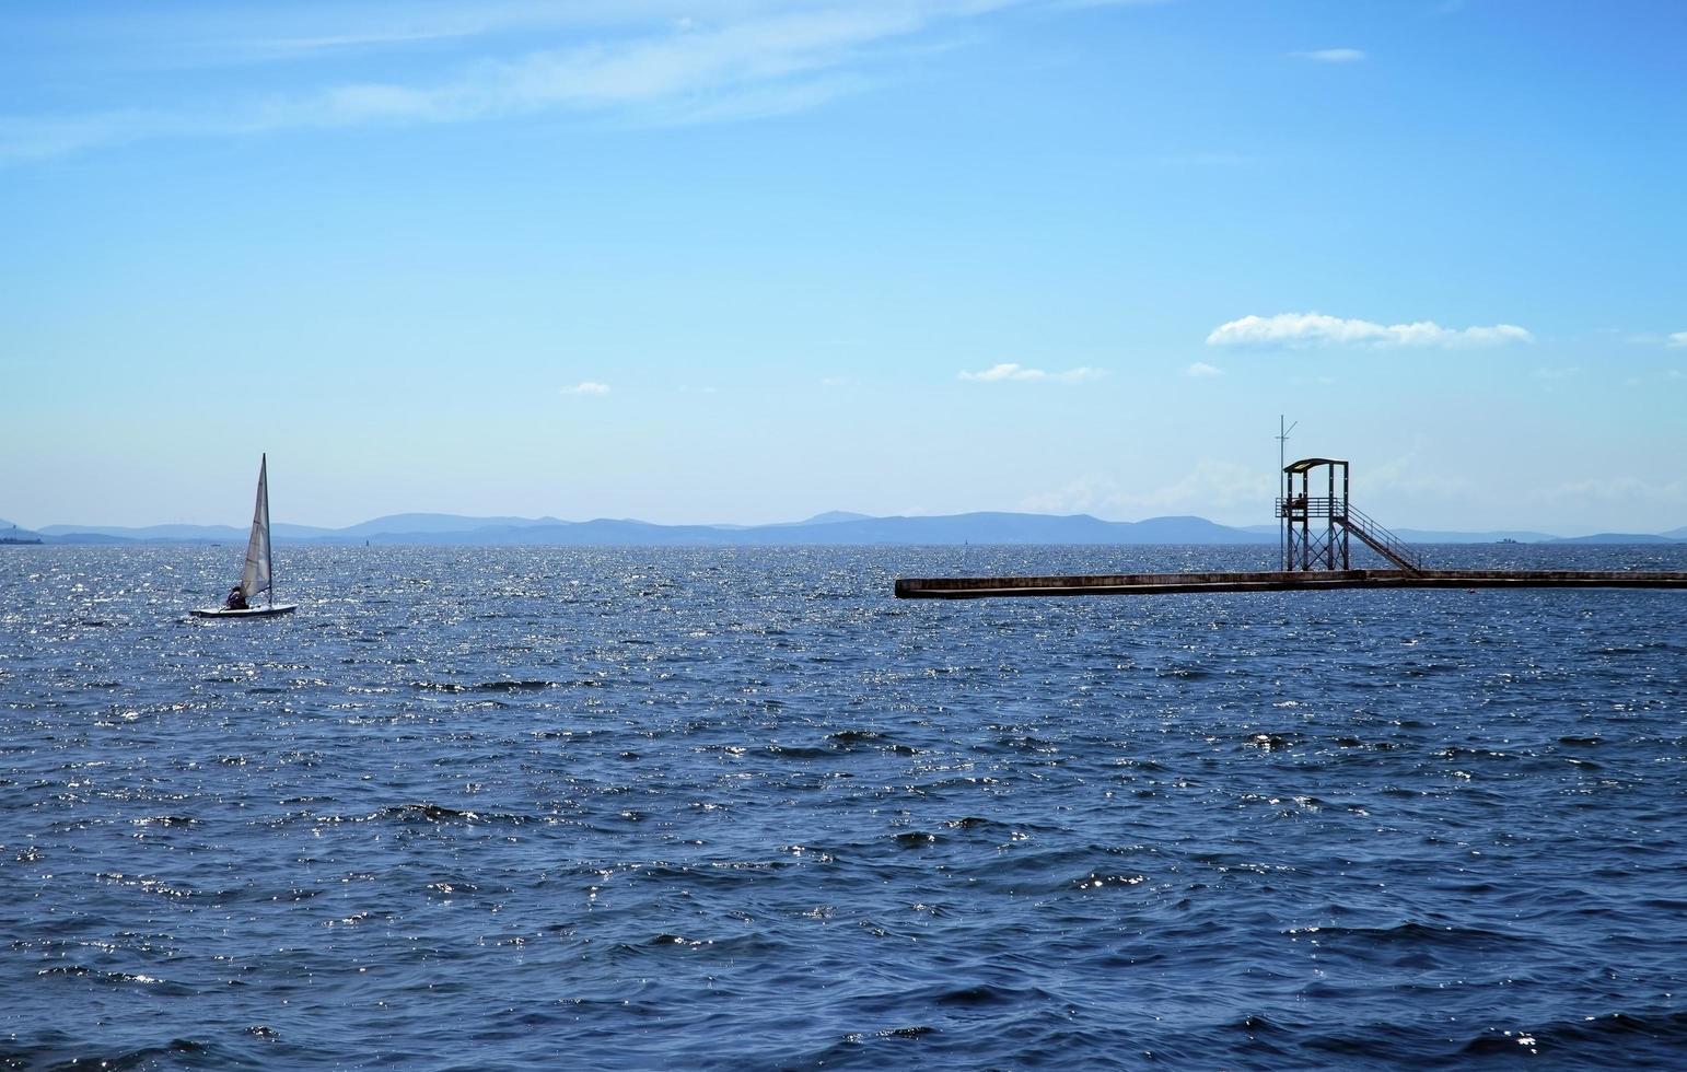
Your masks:
[{"label": "bright blue sky with scattered clouds above the hazy mountains", "polygon": [[0,15],[0,516],[1687,524],[1687,7]]}]

